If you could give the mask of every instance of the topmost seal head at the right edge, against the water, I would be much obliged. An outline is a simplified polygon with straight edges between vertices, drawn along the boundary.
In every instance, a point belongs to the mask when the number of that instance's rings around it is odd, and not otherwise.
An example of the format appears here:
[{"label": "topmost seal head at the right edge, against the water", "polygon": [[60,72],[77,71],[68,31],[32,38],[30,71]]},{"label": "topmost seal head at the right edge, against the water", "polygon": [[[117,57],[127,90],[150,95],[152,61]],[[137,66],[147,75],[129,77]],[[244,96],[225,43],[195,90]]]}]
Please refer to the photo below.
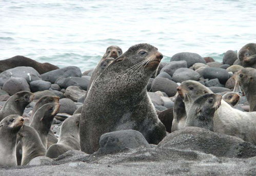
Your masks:
[{"label": "topmost seal head at the right edge, against the water", "polygon": [[256,43],[248,43],[244,45],[240,49],[238,57],[242,66],[256,68]]}]

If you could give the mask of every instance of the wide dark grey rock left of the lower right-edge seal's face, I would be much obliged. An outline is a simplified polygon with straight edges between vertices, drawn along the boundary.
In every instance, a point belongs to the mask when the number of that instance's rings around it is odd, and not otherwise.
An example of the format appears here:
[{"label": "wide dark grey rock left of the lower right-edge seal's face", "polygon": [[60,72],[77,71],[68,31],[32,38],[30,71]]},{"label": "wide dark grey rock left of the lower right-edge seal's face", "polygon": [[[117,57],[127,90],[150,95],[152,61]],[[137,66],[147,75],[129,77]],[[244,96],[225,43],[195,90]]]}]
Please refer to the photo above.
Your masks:
[{"label": "wide dark grey rock left of the lower right-edge seal's face", "polygon": [[223,68],[204,68],[202,71],[202,76],[205,79],[215,79],[218,78],[221,84],[225,84],[227,80],[229,79],[229,74],[227,70]]}]

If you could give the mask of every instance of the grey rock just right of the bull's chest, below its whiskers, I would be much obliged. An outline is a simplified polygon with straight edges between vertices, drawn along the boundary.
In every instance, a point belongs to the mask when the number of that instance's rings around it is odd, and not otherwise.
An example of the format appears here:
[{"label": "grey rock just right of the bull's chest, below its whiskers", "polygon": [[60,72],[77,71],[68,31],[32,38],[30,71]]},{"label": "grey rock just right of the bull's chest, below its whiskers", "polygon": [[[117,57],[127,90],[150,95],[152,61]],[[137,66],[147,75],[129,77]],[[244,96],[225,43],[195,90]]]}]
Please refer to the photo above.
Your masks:
[{"label": "grey rock just right of the bull's chest, below its whiskers", "polygon": [[174,96],[176,94],[177,87],[178,84],[176,84],[174,81],[168,80],[166,78],[155,78],[151,91],[162,91],[165,92],[168,96]]}]

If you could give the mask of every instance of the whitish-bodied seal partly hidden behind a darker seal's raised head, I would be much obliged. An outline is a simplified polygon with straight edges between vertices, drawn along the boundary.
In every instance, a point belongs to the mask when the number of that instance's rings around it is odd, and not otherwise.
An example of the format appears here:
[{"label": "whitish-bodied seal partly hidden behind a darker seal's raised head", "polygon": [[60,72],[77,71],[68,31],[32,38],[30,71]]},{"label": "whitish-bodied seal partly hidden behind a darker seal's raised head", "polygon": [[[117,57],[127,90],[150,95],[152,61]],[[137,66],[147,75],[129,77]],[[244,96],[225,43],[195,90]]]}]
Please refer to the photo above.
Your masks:
[{"label": "whitish-bodied seal partly hidden behind a darker seal's raised head", "polygon": [[[213,93],[209,88],[196,81],[184,81],[177,88],[183,97],[186,113],[189,111],[194,100],[206,93]],[[231,107],[224,100],[215,111],[214,132],[236,136],[244,141],[256,144],[256,112],[243,112]]]}]

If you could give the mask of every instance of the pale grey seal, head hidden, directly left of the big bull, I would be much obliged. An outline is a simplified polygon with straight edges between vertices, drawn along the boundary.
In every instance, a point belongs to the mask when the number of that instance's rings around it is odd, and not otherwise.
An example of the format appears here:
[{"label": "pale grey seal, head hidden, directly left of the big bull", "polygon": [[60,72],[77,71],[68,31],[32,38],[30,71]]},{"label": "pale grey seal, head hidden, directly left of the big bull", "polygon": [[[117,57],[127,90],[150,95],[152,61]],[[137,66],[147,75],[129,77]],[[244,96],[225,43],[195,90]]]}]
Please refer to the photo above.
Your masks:
[{"label": "pale grey seal, head hidden, directly left of the big bull", "polygon": [[68,117],[61,125],[60,137],[46,152],[46,157],[57,158],[68,150],[80,150],[79,121],[81,114]]}]

